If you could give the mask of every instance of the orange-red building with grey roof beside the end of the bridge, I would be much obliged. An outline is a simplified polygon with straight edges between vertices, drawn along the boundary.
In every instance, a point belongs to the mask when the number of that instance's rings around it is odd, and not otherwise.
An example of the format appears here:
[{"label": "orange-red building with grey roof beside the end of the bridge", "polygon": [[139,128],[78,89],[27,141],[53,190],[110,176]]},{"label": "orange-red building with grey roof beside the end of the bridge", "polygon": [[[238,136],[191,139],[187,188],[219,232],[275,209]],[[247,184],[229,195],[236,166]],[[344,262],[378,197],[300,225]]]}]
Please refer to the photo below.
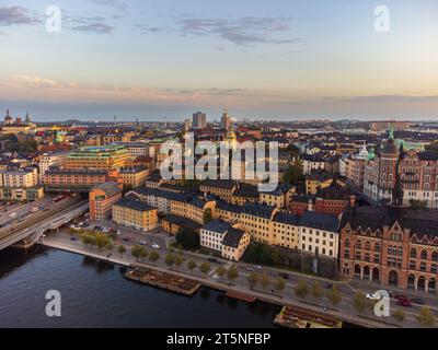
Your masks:
[{"label": "orange-red building with grey roof beside the end of the bridge", "polygon": [[117,183],[103,183],[90,190],[91,220],[105,220],[112,212],[112,206],[122,199],[122,188]]}]

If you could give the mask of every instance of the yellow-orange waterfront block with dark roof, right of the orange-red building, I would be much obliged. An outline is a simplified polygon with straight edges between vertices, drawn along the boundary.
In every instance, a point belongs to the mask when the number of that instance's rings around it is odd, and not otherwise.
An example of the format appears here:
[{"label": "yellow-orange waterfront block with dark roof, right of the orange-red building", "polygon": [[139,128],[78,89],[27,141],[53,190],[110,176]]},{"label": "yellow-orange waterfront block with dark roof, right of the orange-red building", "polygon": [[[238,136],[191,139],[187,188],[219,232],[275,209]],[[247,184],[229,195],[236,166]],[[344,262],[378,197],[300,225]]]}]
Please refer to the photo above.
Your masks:
[{"label": "yellow-orange waterfront block with dark roof, right of the orange-red building", "polygon": [[151,231],[159,224],[158,209],[128,196],[114,203],[113,221],[136,230]]}]

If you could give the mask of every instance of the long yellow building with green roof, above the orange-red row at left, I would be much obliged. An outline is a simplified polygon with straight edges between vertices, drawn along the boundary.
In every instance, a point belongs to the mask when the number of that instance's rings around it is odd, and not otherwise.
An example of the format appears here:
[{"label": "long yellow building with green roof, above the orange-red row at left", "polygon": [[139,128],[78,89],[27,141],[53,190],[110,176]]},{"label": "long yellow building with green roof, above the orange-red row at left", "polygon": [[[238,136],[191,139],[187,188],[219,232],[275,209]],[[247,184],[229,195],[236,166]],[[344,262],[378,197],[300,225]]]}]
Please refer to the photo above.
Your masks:
[{"label": "long yellow building with green roof, above the orange-red row at left", "polygon": [[125,145],[82,147],[66,159],[66,170],[113,171],[129,165]]}]

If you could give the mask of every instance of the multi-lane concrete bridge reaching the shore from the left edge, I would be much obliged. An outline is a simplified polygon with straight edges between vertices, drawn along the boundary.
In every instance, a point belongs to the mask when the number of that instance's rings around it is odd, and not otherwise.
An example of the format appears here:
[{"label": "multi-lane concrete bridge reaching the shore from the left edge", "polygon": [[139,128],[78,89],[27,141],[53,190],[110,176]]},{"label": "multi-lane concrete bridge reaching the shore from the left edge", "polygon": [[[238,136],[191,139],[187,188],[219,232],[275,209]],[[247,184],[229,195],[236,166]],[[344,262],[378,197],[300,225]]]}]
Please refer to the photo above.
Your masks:
[{"label": "multi-lane concrete bridge reaching the shore from the left edge", "polygon": [[0,250],[22,242],[30,246],[48,230],[57,230],[89,210],[88,201],[69,201],[58,208],[35,215],[26,222],[0,231]]}]

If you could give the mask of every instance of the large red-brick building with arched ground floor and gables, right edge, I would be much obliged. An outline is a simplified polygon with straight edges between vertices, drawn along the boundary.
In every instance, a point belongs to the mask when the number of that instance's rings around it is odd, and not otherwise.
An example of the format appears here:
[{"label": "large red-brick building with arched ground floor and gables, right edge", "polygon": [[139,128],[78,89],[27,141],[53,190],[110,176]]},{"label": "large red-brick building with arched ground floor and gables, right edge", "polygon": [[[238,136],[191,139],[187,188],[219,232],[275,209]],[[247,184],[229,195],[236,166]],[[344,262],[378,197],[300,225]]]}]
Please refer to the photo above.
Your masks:
[{"label": "large red-brick building with arched ground floor and gables, right edge", "polygon": [[438,211],[403,207],[348,208],[341,223],[341,272],[437,292]]}]

